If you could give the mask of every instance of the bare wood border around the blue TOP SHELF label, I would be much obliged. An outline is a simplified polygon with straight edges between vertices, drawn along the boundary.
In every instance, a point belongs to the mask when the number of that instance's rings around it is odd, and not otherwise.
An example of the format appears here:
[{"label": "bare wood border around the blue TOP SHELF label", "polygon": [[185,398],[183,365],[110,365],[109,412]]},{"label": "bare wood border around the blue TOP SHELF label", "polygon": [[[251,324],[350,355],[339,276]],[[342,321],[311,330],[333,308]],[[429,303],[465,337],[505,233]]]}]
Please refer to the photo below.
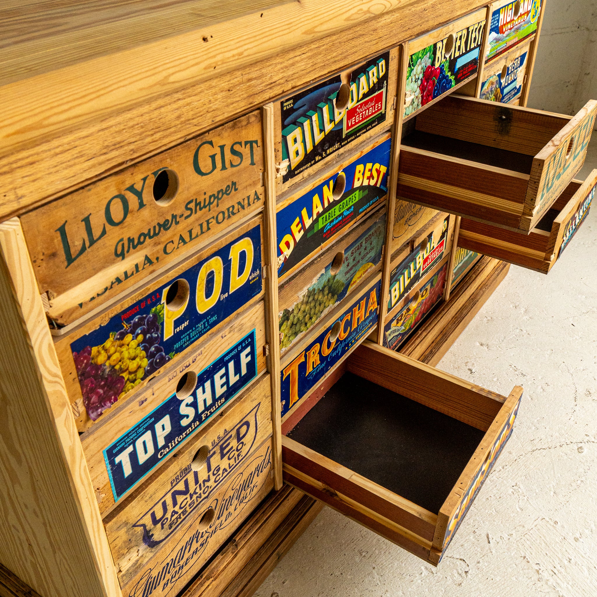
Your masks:
[{"label": "bare wood border around the blue TOP SHELF label", "polygon": [[[112,412],[106,413],[103,421],[91,427],[81,436],[81,444],[87,458],[87,466],[89,467],[102,515],[106,515],[114,505],[114,496],[110,488],[110,479],[102,450],[112,444],[123,433],[126,433],[128,429],[131,429],[143,417],[151,413],[165,399],[173,395],[176,392],[177,383],[185,371],[200,373],[214,359],[223,354],[230,346],[234,346],[236,341],[244,338],[251,330],[256,331],[257,373],[260,374],[265,371],[266,360],[263,352],[265,344],[264,317],[262,301],[248,309],[247,312],[241,313],[218,336],[206,343],[196,345],[186,359],[179,361],[173,367],[164,367],[164,371],[153,378],[153,383],[147,384],[144,390],[141,390],[135,396],[131,396],[131,398],[116,402],[109,409]],[[233,399],[236,400],[237,398]],[[206,423],[207,421],[203,424]],[[171,455],[165,457],[158,466],[163,466],[163,463],[170,458]]]}]

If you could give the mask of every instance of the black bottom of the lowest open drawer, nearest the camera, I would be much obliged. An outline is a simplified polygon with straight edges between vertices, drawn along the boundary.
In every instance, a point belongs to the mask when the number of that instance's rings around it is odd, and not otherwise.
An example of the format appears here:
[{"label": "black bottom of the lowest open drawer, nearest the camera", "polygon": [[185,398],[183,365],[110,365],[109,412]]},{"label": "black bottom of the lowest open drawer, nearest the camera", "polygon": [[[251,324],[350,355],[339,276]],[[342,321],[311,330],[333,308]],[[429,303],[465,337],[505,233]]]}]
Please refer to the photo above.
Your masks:
[{"label": "black bottom of the lowest open drawer, nearest the camera", "polygon": [[484,435],[350,372],[288,433],[436,514]]}]

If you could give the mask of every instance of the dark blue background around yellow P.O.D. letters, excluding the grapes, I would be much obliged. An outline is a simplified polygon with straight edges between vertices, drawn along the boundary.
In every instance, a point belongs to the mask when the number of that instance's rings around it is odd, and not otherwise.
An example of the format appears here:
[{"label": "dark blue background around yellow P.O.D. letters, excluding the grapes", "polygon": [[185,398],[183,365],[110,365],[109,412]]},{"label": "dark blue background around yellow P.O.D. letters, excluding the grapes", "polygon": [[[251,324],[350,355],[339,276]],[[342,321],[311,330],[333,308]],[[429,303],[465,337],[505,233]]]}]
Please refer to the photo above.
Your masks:
[{"label": "dark blue background around yellow P.O.D. letters, excluding the grapes", "polygon": [[[226,298],[219,298],[217,303],[206,313],[198,313],[195,301],[197,294],[197,278],[201,267],[206,261],[209,261],[214,257],[220,257],[223,263],[221,291],[222,293],[226,293],[228,291],[227,289],[230,288],[230,247],[241,238],[250,238],[251,242],[253,242],[253,267],[251,268],[251,273],[247,282],[240,288],[237,288],[232,294],[228,294]],[[244,255],[244,253],[242,253],[242,255]],[[243,258],[241,263],[239,263],[239,271],[244,271],[245,263]],[[223,319],[232,315],[236,310],[241,309],[241,307],[248,303],[251,298],[257,296],[261,292],[261,227],[258,225],[248,232],[239,235],[215,253],[205,257],[205,259],[199,261],[199,263],[196,263],[192,267],[189,267],[185,272],[171,278],[164,285],[156,288],[152,293],[147,294],[147,296],[135,303],[130,303],[127,307],[110,318],[106,324],[101,325],[97,330],[75,340],[70,344],[70,349],[72,352],[79,352],[84,349],[85,346],[93,347],[103,344],[110,337],[111,332],[118,332],[119,330],[124,329],[122,325],[123,321],[127,324],[131,324],[137,315],[148,315],[153,307],[158,306],[161,303],[164,291],[167,291],[167,288],[170,287],[174,281],[181,278],[189,283],[189,302],[187,303],[184,313],[176,319],[174,328],[176,329],[177,325],[181,325],[187,320],[189,323],[184,327],[183,333],[174,333],[168,340],[164,340],[164,323],[162,322],[160,324],[160,344],[164,347],[164,352],[166,354],[182,352],[190,346],[190,344],[210,331],[211,328],[216,327],[216,325],[223,321]],[[213,274],[207,278],[207,296],[210,295],[211,290],[213,289],[213,278]],[[145,306],[141,307],[141,304],[143,303]],[[134,309],[136,306],[139,307],[139,310],[136,310],[130,317],[122,319],[122,315]]]}]

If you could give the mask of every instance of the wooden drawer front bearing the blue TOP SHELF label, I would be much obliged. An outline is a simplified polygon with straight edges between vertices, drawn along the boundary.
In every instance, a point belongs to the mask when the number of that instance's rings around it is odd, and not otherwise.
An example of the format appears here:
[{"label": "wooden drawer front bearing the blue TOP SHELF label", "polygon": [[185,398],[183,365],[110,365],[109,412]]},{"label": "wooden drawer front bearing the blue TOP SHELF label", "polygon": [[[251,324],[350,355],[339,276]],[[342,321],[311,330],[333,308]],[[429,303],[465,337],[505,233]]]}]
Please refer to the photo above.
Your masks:
[{"label": "wooden drawer front bearing the blue TOP SHELF label", "polygon": [[261,301],[82,436],[102,513],[265,370],[264,328]]}]

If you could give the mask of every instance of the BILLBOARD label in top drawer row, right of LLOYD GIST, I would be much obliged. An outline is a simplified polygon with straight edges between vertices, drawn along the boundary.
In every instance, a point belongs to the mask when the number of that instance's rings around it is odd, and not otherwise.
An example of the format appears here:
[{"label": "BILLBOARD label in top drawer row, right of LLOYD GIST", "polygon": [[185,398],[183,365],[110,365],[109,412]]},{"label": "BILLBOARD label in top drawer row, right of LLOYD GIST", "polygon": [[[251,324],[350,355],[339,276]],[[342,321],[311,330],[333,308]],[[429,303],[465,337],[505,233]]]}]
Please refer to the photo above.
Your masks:
[{"label": "BILLBOARD label in top drawer row, right of LLOYD GIST", "polygon": [[389,62],[384,52],[280,102],[283,182],[386,121]]}]

